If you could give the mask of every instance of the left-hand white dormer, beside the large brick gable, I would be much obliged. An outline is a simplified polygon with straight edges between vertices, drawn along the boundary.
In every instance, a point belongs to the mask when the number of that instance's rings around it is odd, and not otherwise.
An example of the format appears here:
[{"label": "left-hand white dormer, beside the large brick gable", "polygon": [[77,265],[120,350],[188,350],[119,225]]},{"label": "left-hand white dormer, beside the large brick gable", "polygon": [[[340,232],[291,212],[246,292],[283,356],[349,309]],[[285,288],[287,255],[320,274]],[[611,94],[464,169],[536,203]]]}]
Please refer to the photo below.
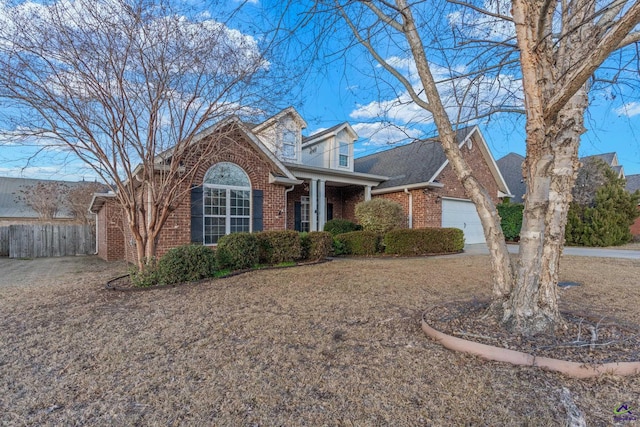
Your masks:
[{"label": "left-hand white dormer, beside the large brick gable", "polygon": [[268,118],[251,130],[276,157],[287,163],[300,163],[302,158],[302,129],[307,123],[289,107]]}]

